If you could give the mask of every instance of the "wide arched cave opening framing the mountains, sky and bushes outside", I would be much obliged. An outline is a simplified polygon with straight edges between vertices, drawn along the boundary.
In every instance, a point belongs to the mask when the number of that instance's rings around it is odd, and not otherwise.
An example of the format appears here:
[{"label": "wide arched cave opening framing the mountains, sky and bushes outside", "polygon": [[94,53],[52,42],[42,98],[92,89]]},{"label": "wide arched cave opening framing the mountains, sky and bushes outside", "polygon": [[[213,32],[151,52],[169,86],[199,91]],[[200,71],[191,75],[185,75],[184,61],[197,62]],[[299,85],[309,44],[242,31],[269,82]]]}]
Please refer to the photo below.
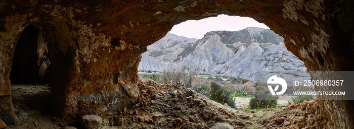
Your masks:
[{"label": "wide arched cave opening framing the mountains, sky and bushes outside", "polygon": [[[182,80],[186,87],[220,101],[207,92],[219,91],[211,90],[216,85],[210,82],[217,82],[218,88],[224,87],[234,96],[241,96],[223,99],[235,100],[222,103],[231,106],[236,103],[237,108],[251,105],[254,92],[264,93],[264,99],[270,98],[267,80],[271,74],[284,78],[289,85],[294,78],[311,79],[304,62],[287,50],[283,37],[252,18],[227,15],[174,25],[165,37],[147,47],[138,71],[143,81]],[[297,90],[300,89],[289,86],[286,95]],[[292,101],[287,96],[270,99],[278,101],[272,101],[272,105],[264,102],[259,107],[287,106],[288,100]]]}]

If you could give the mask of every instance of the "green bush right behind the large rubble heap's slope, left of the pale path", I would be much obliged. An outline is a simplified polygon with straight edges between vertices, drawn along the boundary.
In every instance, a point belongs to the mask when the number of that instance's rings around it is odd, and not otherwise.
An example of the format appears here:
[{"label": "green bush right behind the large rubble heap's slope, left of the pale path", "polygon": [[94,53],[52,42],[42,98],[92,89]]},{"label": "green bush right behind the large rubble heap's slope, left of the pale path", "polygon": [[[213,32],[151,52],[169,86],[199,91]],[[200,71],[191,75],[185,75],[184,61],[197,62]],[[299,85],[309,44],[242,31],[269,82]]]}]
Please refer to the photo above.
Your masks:
[{"label": "green bush right behind the large rubble heap's slope, left of the pale path", "polygon": [[232,108],[235,108],[235,100],[233,99],[233,94],[230,89],[220,86],[215,82],[210,83],[210,97],[218,103],[227,103]]}]

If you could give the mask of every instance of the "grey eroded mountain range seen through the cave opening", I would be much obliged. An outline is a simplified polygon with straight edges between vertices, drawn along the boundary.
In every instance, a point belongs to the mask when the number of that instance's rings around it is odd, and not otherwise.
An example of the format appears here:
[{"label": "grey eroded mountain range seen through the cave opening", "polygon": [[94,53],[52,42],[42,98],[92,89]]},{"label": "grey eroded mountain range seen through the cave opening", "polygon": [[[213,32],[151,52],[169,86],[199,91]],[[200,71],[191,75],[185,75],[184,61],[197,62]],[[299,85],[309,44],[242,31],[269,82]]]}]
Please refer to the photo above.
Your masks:
[{"label": "grey eroded mountain range seen through the cave opening", "polygon": [[150,50],[149,57],[143,55],[138,70],[162,72],[170,67],[186,66],[198,74],[252,81],[266,80],[262,78],[264,72],[280,72],[283,78],[309,79],[304,63],[286,49],[283,40],[272,30],[257,27],[240,31],[211,31],[197,41],[167,34],[153,44],[161,54],[151,57]]}]

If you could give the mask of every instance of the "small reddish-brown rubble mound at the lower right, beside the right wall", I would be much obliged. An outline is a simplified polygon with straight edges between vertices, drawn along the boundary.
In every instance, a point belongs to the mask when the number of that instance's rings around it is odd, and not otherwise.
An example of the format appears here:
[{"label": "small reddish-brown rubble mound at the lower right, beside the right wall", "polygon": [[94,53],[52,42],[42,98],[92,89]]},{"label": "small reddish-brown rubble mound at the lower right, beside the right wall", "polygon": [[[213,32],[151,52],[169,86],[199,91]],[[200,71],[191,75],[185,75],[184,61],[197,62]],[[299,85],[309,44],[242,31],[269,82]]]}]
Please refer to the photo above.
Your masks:
[{"label": "small reddish-brown rubble mound at the lower right, beside the right wall", "polygon": [[319,100],[310,100],[278,110],[261,119],[267,128],[335,128]]}]

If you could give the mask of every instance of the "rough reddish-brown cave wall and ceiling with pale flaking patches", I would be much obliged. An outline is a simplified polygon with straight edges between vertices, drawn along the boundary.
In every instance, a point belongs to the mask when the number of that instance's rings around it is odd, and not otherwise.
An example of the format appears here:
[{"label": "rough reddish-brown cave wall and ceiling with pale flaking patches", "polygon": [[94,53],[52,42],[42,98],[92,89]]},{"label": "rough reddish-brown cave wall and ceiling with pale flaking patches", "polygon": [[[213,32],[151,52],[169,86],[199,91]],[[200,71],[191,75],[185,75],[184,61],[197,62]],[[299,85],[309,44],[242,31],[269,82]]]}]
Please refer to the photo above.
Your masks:
[{"label": "rough reddish-brown cave wall and ceiling with pale flaking patches", "polygon": [[[218,14],[247,16],[269,26],[309,71],[353,71],[353,10],[348,1],[324,0],[2,1],[0,118],[19,121],[9,73],[17,40],[29,25],[42,28],[48,44],[53,113],[76,117],[134,104],[146,47],[175,24]],[[328,89],[316,87],[323,88]],[[353,127],[352,101],[322,102],[336,127]]]}]

